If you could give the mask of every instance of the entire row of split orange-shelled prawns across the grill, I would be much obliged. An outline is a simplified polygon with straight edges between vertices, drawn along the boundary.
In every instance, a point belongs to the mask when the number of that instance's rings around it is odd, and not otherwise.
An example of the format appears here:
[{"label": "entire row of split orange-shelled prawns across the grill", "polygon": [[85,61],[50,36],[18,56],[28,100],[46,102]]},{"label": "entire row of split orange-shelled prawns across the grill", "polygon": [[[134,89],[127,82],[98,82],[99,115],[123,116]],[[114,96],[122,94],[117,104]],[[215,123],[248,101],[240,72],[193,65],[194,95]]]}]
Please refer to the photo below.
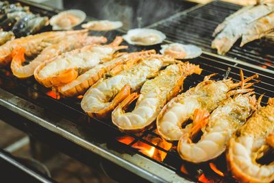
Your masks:
[{"label": "entire row of split orange-shelled prawns across the grill", "polygon": [[[227,162],[238,180],[273,182],[273,159],[258,161],[273,153],[274,99],[252,115],[262,97],[256,101],[249,88],[256,82],[249,81],[258,75],[244,79],[241,71],[235,83],[210,80],[213,74],[177,95],[188,75],[201,73],[199,66],[155,50],[116,53],[127,48],[122,40],[99,45],[106,39],[88,36],[86,30],[46,32],[6,42],[0,47],[5,53],[1,63],[11,61],[17,77],[34,74],[40,84],[66,97],[84,95],[81,106],[90,117],[112,117],[122,131],[140,132],[156,120],[160,136],[179,141],[179,156],[188,162],[207,162],[228,149]],[[24,55],[37,54],[23,66]]]}]

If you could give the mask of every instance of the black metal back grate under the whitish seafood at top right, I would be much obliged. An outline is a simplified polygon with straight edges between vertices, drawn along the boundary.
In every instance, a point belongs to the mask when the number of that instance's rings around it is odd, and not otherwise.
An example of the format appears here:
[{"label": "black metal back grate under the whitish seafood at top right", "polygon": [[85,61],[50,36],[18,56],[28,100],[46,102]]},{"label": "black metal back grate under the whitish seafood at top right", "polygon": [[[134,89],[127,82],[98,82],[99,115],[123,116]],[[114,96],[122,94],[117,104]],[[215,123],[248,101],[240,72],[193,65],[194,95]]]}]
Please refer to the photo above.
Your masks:
[{"label": "black metal back grate under the whitish seafood at top right", "polygon": [[[215,49],[211,49],[212,33],[215,27],[225,17],[240,8],[240,5],[224,1],[212,1],[201,8],[171,16],[166,21],[160,21],[149,27],[164,32],[167,39],[173,42],[198,45],[205,51],[216,53]],[[239,45],[239,42],[236,42],[226,56],[274,70],[274,55],[269,42],[256,40],[242,48]]]}]

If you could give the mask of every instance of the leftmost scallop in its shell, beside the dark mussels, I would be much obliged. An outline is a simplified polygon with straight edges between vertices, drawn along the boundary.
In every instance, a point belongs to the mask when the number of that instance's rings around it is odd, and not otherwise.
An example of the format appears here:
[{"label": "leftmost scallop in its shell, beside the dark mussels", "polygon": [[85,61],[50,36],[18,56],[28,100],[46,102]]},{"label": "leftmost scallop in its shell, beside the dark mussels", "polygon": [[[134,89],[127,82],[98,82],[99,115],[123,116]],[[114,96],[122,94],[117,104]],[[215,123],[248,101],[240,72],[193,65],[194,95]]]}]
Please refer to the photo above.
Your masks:
[{"label": "leftmost scallop in its shell, beside the dark mussels", "polygon": [[79,25],[86,19],[86,13],[81,10],[67,10],[52,16],[49,23],[53,30],[68,30]]}]

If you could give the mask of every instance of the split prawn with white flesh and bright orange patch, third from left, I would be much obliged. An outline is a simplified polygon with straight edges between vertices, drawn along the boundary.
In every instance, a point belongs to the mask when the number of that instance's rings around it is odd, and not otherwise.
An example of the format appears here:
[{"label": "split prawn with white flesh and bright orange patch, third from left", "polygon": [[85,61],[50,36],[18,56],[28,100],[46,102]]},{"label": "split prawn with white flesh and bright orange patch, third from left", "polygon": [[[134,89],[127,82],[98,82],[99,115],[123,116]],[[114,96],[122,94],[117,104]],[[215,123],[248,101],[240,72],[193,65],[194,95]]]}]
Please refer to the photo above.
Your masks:
[{"label": "split prawn with white flesh and bright orange patch, third from left", "polygon": [[123,38],[116,37],[110,45],[88,45],[42,62],[34,71],[36,80],[46,87],[58,87],[77,78],[100,62],[112,59]]}]

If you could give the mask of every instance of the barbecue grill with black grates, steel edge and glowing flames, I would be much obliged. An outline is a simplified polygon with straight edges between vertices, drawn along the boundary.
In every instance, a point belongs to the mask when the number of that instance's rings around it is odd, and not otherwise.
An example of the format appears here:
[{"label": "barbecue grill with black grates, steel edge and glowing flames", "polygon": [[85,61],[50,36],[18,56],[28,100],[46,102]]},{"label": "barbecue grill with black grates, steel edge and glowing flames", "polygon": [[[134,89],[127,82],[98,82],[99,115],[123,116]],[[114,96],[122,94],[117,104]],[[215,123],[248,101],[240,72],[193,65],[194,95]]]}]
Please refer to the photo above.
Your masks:
[{"label": "barbecue grill with black grates, steel edge and glowing flames", "polygon": [[[30,5],[32,11],[40,14],[52,16],[58,12],[42,5]],[[245,77],[255,73],[260,75],[261,82],[254,88],[257,97],[266,93],[262,98],[262,105],[266,105],[266,101],[274,97],[274,58],[267,42],[259,40],[243,48],[236,44],[226,56],[218,56],[210,48],[216,25],[240,6],[212,1],[206,5],[190,3],[186,7],[186,10],[147,26],[164,32],[166,42],[191,43],[203,49],[199,58],[189,60],[199,64],[203,72],[187,77],[184,91],[212,73],[218,73],[214,80],[232,77],[240,81],[239,71],[242,69]],[[123,33],[122,29],[103,36],[113,40]],[[142,49],[159,51],[160,46],[129,45],[129,51]],[[86,164],[94,165],[94,160],[103,160],[123,167],[122,172],[129,171],[151,182],[235,182],[227,172],[226,164],[220,163],[225,162],[223,156],[210,164],[184,162],[174,149],[176,144],[162,140],[155,126],[139,134],[120,132],[111,121],[88,117],[79,105],[81,99],[60,98],[49,88],[40,86],[34,78],[18,80],[8,67],[0,69],[0,96],[1,119]]]}]

